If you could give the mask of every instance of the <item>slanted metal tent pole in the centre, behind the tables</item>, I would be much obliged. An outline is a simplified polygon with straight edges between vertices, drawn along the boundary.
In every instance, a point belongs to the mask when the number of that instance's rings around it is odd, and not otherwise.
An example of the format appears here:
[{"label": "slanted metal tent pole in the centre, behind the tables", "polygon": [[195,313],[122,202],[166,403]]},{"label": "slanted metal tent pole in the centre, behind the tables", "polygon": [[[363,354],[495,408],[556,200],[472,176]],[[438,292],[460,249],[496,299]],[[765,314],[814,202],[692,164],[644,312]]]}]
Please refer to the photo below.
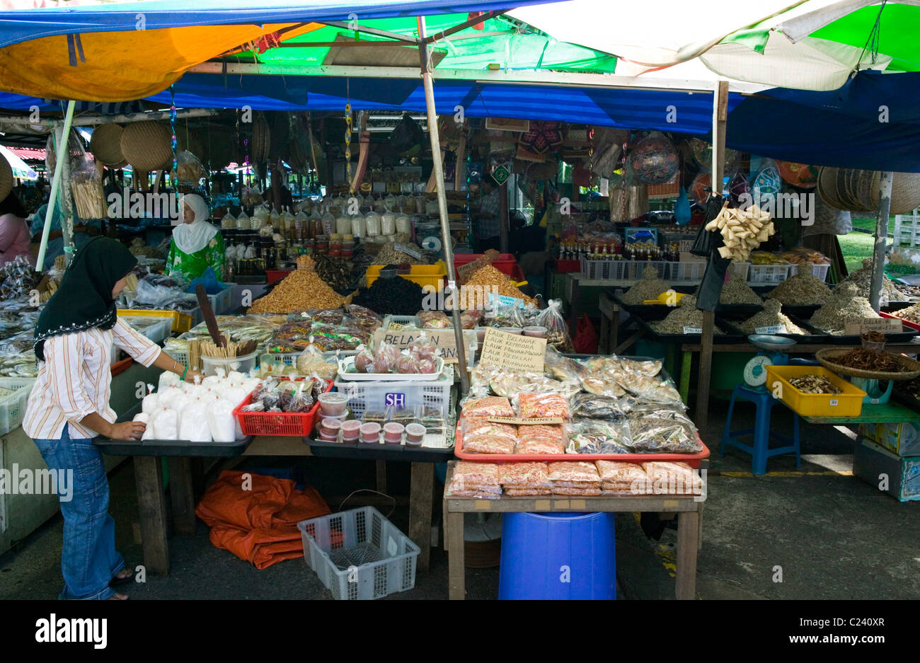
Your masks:
[{"label": "slanted metal tent pole in the centre, behind the tables", "polygon": [[451,315],[454,318],[454,336],[457,344],[457,370],[460,372],[460,386],[463,393],[469,391],[469,375],[466,372],[466,348],[464,347],[463,326],[460,324],[460,291],[456,285],[454,272],[454,247],[451,246],[451,226],[447,218],[447,194],[444,192],[444,165],[441,161],[441,136],[438,131],[438,114],[434,108],[434,85],[431,82],[431,61],[429,60],[428,42],[425,40],[425,17],[417,18],[419,24],[419,54],[421,58],[421,80],[425,86],[425,107],[428,109],[428,135],[431,138],[431,159],[434,162],[434,178],[438,185],[438,213],[441,216],[441,234],[444,242],[444,261],[447,263],[446,295],[454,294]]}]

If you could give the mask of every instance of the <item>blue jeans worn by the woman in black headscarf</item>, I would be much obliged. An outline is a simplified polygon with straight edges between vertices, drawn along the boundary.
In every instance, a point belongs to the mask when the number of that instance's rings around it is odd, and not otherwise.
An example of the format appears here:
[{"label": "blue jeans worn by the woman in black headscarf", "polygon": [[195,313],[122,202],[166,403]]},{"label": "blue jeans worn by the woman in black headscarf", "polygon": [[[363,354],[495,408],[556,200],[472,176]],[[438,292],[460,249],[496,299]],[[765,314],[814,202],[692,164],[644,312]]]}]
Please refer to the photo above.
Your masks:
[{"label": "blue jeans worn by the woman in black headscarf", "polygon": [[73,470],[70,501],[61,502],[64,588],[59,599],[108,599],[109,582],[124,566],[115,550],[115,520],[109,515],[109,479],[93,440],[72,440],[64,426],[60,440],[35,440],[49,469]]}]

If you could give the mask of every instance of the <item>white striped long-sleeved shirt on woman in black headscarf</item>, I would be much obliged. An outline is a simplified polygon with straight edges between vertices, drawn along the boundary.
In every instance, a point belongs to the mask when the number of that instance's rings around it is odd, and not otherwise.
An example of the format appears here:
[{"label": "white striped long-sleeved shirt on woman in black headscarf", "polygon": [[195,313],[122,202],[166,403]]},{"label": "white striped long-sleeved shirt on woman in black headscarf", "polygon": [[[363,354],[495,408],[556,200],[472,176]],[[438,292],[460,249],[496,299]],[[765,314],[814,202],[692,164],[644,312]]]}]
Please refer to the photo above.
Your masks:
[{"label": "white striped long-sleeved shirt on woman in black headscarf", "polygon": [[45,360],[29,394],[22,429],[32,440],[60,440],[70,424],[71,440],[95,438],[98,432],[80,425],[80,419],[96,412],[115,422],[109,407],[112,344],[135,360],[150,366],[160,348],[119,319],[111,329],[87,329],[45,340]]}]

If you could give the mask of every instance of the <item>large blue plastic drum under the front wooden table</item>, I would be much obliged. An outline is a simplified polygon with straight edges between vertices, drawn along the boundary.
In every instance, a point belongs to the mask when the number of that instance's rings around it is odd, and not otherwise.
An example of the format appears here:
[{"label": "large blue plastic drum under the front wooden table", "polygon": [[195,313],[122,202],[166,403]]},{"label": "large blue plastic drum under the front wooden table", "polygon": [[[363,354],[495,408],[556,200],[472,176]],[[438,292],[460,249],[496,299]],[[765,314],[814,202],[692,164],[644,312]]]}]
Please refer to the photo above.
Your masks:
[{"label": "large blue plastic drum under the front wooden table", "polygon": [[613,513],[504,513],[500,600],[614,600]]}]

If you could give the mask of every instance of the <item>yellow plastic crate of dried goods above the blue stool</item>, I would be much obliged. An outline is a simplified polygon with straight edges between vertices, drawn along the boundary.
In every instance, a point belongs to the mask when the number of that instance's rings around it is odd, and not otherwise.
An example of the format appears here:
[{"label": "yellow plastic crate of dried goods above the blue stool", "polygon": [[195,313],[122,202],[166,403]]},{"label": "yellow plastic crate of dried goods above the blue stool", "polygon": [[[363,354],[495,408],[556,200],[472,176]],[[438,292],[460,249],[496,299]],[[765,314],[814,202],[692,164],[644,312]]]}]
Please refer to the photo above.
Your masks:
[{"label": "yellow plastic crate of dried goods above the blue stool", "polygon": [[[843,394],[805,394],[788,382],[806,373],[823,375]],[[782,387],[779,399],[802,417],[858,417],[867,395],[823,366],[767,366],[766,388],[776,393],[777,383]]]}]

